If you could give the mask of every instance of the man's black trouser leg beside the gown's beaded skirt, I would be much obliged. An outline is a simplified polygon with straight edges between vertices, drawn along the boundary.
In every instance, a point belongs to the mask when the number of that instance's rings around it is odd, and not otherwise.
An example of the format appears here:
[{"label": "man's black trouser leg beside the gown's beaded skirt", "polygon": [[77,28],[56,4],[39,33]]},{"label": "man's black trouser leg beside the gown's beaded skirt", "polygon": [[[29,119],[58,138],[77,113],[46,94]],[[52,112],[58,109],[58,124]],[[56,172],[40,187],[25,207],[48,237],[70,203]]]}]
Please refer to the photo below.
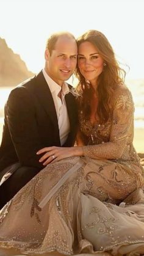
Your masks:
[{"label": "man's black trouser leg beside the gown's beaded skirt", "polygon": [[40,170],[36,167],[21,166],[5,180],[0,186],[0,209],[38,172]]}]

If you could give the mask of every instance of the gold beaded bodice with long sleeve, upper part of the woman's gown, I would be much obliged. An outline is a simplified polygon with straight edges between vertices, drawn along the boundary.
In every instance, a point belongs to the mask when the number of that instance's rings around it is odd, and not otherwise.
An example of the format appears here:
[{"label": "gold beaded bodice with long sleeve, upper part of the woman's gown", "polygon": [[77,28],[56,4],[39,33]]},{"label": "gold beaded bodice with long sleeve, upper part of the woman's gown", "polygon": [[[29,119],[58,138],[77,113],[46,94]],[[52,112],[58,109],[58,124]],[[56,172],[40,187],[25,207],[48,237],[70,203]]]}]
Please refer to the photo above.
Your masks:
[{"label": "gold beaded bodice with long sleeve, upper part of the woman's gown", "polygon": [[134,137],[134,103],[126,86],[119,86],[112,98],[112,114],[101,125],[92,125],[79,112],[79,126],[84,142],[84,155],[91,158],[123,159],[139,164],[139,157],[132,145]]}]

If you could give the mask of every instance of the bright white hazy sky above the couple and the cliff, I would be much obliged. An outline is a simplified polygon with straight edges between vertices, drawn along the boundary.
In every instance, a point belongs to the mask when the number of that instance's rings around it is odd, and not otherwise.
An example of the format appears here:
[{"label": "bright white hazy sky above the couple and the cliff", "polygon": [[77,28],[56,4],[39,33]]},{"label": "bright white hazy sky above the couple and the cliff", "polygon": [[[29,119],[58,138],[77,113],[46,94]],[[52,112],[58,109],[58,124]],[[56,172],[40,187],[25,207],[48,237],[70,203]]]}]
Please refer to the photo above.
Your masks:
[{"label": "bright white hazy sky above the couple and the cliff", "polygon": [[53,32],[78,37],[96,29],[106,35],[123,67],[129,65],[127,78],[143,79],[143,11],[144,0],[0,0],[0,37],[37,73]]}]

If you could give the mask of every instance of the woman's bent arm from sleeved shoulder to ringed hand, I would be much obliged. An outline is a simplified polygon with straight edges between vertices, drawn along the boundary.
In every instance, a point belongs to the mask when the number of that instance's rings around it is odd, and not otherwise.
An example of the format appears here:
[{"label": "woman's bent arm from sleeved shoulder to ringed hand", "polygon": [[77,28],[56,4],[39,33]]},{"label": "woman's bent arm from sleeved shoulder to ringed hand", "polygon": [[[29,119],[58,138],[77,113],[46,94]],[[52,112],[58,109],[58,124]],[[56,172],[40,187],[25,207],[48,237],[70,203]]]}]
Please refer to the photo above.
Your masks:
[{"label": "woman's bent arm from sleeved shoulder to ringed hand", "polygon": [[124,147],[128,142],[129,134],[134,123],[134,103],[131,92],[126,87],[118,90],[113,105],[112,128],[110,140],[99,145],[83,145],[81,137],[77,147],[48,147],[38,151],[38,155],[45,153],[40,162],[46,165],[52,161],[58,161],[71,156],[89,156],[94,159],[118,159],[123,154]]}]

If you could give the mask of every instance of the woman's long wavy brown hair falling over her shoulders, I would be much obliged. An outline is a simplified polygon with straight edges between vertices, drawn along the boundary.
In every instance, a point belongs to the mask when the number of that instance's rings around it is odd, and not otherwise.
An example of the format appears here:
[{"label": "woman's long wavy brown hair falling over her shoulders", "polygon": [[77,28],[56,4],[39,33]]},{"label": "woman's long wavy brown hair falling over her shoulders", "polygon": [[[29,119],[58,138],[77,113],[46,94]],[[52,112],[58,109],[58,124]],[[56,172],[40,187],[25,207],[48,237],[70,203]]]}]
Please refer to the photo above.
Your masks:
[{"label": "woman's long wavy brown hair falling over her shoulders", "polygon": [[[99,55],[104,60],[104,65],[106,64],[103,72],[98,76],[98,108],[96,111],[100,123],[105,123],[111,113],[110,99],[112,98],[113,90],[121,83],[124,83],[126,72],[119,67],[112,46],[103,33],[95,30],[85,32],[85,34],[77,38],[78,49],[81,43],[84,42],[90,42],[96,46]],[[78,65],[76,67],[76,77],[79,79],[76,91],[82,95],[78,100],[79,108],[88,118],[90,116],[90,100],[94,89],[90,84],[87,84]]]}]

